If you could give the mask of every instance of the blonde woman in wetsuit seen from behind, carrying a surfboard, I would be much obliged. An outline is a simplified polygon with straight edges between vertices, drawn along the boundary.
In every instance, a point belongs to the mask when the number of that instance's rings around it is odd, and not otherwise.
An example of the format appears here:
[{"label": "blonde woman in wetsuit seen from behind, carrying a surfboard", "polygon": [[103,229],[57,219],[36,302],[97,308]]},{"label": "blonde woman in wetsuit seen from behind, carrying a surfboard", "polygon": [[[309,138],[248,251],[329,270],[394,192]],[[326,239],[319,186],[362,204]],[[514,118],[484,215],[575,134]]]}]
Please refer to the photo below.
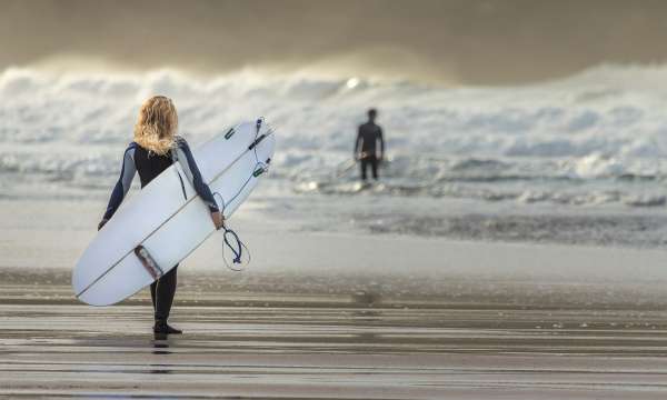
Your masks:
[{"label": "blonde woman in wetsuit seen from behind, carrying a surfboard", "polygon": [[[125,151],[120,178],[111,192],[109,206],[98,230],[102,229],[122,202],[130,190],[136,172],[139,172],[141,188],[143,188],[177,160],[180,160],[195,190],[207,203],[216,229],[223,227],[223,217],[218,210],[213,194],[201,179],[188,143],[183,138],[176,136],[177,128],[178,114],[171,99],[155,96],[141,106],[139,119],[135,126],[135,141]],[[167,323],[176,293],[177,267],[178,264],[150,286],[150,298],[156,319],[155,333],[182,333]]]}]

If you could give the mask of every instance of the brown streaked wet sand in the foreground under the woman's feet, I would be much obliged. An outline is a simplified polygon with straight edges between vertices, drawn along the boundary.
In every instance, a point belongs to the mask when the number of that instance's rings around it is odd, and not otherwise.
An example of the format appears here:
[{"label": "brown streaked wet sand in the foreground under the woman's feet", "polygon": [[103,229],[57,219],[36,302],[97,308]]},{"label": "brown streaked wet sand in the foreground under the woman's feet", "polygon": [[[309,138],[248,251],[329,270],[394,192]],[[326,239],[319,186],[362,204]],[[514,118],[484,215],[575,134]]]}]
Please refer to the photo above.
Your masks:
[{"label": "brown streaked wet sand in the foreground under the woman's feet", "polygon": [[63,276],[48,286],[19,278],[2,284],[0,396],[667,396],[667,312],[651,307],[531,308],[365,293],[201,296],[200,282],[186,274],[172,317],[186,334],[165,340],[150,333],[146,292],[92,308],[71,299],[59,282]]}]

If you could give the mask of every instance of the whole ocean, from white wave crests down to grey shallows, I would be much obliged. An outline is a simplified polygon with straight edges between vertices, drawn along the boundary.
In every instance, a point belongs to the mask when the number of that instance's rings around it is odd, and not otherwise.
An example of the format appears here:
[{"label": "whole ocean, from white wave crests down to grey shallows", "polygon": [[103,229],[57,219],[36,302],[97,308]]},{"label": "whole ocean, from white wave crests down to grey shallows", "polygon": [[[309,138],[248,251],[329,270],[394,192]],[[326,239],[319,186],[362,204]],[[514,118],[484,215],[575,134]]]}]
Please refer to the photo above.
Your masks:
[{"label": "whole ocean, from white wave crests down to grey shallows", "polygon": [[[287,231],[666,241],[661,66],[600,66],[520,87],[11,68],[0,72],[0,198],[103,203],[139,106],[158,93],[175,100],[193,148],[259,116],[276,128],[272,176],[247,207]],[[369,107],[387,162],[365,187],[351,158]]]}]

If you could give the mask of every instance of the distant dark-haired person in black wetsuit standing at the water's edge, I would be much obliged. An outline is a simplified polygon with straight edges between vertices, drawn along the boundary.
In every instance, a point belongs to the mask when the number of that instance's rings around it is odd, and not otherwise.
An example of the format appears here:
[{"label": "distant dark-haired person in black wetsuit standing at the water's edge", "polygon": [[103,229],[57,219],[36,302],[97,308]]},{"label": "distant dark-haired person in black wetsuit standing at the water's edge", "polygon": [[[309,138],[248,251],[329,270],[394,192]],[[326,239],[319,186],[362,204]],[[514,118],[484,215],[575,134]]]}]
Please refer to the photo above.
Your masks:
[{"label": "distant dark-haired person in black wetsuit standing at the water's edge", "polygon": [[[368,121],[359,126],[357,141],[355,142],[355,159],[360,161],[361,179],[366,180],[366,171],[370,166],[372,178],[378,179],[378,164],[385,157],[385,139],[382,128],[375,123],[378,116],[376,109],[368,110]],[[377,146],[380,142],[380,151]]]}]

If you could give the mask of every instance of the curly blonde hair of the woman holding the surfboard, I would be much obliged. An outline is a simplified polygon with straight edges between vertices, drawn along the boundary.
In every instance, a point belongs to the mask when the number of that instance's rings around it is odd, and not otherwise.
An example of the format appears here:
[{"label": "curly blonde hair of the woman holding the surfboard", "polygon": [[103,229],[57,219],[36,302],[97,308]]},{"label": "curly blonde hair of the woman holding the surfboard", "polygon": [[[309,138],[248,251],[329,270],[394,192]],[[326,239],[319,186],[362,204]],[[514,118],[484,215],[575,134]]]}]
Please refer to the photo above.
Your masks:
[{"label": "curly blonde hair of the woman holding the surfboard", "polygon": [[165,156],[176,146],[178,113],[171,99],[153,96],[141,104],[135,142],[156,154]]}]

